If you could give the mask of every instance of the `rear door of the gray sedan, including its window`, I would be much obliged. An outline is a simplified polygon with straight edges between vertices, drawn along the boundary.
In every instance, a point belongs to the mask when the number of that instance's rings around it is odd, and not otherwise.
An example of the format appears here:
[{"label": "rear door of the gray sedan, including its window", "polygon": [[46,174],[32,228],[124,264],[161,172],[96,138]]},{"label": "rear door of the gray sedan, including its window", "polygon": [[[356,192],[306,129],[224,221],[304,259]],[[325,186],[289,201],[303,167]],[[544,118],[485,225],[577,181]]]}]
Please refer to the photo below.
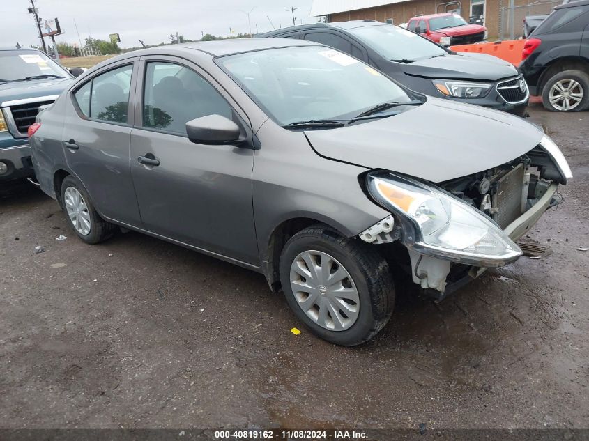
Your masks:
[{"label": "rear door of the gray sedan, including its window", "polygon": [[100,70],[70,92],[63,150],[101,215],[141,222],[129,166],[132,97],[139,58]]}]

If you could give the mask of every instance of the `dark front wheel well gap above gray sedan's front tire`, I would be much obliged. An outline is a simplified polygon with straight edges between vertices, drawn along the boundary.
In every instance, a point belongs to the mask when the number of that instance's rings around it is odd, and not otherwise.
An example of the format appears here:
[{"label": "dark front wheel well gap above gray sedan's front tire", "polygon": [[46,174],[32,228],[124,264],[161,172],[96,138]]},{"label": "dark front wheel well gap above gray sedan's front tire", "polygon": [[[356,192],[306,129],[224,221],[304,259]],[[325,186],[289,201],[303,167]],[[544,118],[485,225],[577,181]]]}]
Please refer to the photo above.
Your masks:
[{"label": "dark front wheel well gap above gray sedan's front tire", "polygon": [[266,263],[266,278],[268,279],[268,284],[270,285],[270,289],[274,292],[280,291],[280,254],[282,254],[282,249],[284,249],[284,245],[286,242],[289,241],[293,235],[298,233],[299,231],[306,229],[308,226],[312,225],[326,225],[324,222],[319,222],[316,219],[311,219],[309,217],[297,217],[295,219],[289,219],[287,221],[282,222],[279,226],[277,226],[272,235],[270,236],[270,241],[268,242],[268,256]]}]

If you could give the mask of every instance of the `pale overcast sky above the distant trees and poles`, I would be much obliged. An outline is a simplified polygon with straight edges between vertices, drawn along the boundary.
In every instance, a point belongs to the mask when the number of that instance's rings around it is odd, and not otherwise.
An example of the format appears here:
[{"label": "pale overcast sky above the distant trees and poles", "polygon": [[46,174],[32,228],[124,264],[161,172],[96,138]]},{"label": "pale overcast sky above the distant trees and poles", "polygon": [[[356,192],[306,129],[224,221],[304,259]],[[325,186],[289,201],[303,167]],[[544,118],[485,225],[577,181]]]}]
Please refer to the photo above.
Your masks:
[{"label": "pale overcast sky above the distant trees and poles", "polygon": [[[59,17],[65,34],[58,42],[78,42],[79,37],[91,35],[108,39],[109,33],[121,36],[121,47],[139,46],[141,38],[146,45],[168,42],[171,33],[198,40],[201,33],[229,36],[248,33],[247,15],[252,8],[252,32],[272,30],[292,25],[287,9],[294,6],[296,23],[316,22],[309,17],[312,0],[36,0],[39,16],[43,20]],[[29,0],[0,0],[0,47],[39,45],[35,22],[26,9]],[[244,12],[242,12],[244,11]],[[266,17],[268,16],[268,17]],[[46,39],[49,42],[49,38]]]}]

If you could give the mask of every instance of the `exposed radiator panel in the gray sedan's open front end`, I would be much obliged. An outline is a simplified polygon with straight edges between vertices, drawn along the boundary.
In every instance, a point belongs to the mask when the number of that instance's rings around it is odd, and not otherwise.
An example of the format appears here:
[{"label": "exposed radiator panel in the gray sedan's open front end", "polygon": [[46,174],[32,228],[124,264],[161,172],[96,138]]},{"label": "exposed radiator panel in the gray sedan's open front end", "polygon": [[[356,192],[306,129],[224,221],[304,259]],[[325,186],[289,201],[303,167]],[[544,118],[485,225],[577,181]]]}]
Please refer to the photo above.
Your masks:
[{"label": "exposed radiator panel in the gray sedan's open front end", "polygon": [[522,194],[525,173],[523,164],[519,164],[497,180],[497,189],[492,196],[493,219],[502,229],[520,217],[523,212]]}]

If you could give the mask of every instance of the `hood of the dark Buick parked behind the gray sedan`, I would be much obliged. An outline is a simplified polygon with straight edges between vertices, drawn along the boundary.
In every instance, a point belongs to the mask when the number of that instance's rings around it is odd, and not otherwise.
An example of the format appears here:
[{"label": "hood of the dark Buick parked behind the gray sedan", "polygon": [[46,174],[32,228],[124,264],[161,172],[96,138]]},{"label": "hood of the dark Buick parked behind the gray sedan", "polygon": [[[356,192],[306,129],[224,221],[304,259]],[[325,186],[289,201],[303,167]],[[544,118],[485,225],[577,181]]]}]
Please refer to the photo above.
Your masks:
[{"label": "hood of the dark Buick parked behind the gray sedan", "polygon": [[517,69],[496,56],[487,54],[455,54],[434,56],[401,65],[406,75],[441,79],[497,81],[518,74]]}]

